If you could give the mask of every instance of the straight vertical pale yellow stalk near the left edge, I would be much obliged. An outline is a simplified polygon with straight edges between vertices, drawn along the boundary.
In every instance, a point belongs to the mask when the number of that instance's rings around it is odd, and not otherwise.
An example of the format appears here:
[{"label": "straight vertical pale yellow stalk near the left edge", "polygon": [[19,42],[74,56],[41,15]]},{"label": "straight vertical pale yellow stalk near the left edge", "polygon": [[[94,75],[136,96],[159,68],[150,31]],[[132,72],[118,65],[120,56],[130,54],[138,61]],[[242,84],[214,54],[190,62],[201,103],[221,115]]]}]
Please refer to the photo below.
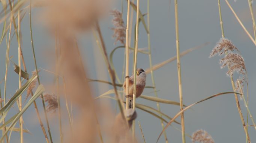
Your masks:
[{"label": "straight vertical pale yellow stalk near the left edge", "polygon": [[[19,0],[18,0],[19,1]],[[18,65],[19,65],[19,88],[21,88],[21,17],[18,9]],[[19,111],[22,109],[22,96],[19,96]],[[22,116],[19,118],[21,143],[23,143],[23,121]]]}]

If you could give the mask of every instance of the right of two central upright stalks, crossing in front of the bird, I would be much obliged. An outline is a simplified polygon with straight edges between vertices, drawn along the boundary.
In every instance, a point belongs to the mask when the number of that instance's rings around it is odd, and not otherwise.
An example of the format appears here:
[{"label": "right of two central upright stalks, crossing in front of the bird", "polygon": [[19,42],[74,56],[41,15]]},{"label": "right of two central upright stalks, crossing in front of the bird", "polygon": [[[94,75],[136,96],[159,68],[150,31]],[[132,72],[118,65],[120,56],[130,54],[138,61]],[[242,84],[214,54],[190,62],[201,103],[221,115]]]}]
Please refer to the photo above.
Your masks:
[{"label": "right of two central upright stalks, crossing in front of the bird", "polygon": [[[137,71],[137,54],[138,54],[138,19],[140,10],[140,0],[137,0],[137,13],[136,13],[136,39],[135,39],[135,55],[134,55],[134,68],[133,68],[133,109],[136,106],[136,71]],[[132,121],[132,136],[135,139],[135,120]]]}]

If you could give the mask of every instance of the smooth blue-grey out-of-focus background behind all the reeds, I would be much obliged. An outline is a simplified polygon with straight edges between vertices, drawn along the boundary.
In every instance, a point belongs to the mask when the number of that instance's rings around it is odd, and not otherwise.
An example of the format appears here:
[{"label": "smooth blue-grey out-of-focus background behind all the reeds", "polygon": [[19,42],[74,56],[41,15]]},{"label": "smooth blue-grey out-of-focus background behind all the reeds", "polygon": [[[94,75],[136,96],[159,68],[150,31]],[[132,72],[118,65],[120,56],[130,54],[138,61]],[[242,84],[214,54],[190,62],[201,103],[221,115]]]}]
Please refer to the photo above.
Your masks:
[{"label": "smooth blue-grey out-of-focus background behind all the reeds", "polygon": [[[250,10],[247,1],[229,0],[231,6],[242,20],[247,30],[253,35],[252,19],[250,16]],[[113,1],[111,7],[113,9],[122,10],[123,4],[123,18],[126,23],[127,16],[127,1],[116,0]],[[252,4],[255,8],[255,3]],[[183,104],[190,105],[196,101],[206,98],[210,95],[214,95],[220,92],[232,92],[232,86],[229,77],[226,76],[227,69],[220,69],[219,56],[208,58],[212,48],[216,42],[221,38],[219,9],[217,0],[179,0],[179,35],[180,35],[180,51],[185,51],[189,48],[196,47],[205,42],[210,42],[203,48],[192,51],[181,58],[181,71],[182,71],[182,85],[183,85]],[[246,63],[246,69],[249,77],[249,108],[253,117],[256,117],[256,101],[255,87],[256,87],[256,47],[249,37],[246,35],[240,24],[235,19],[233,13],[227,6],[224,0],[221,0],[222,18],[225,37],[230,39],[234,45],[240,50],[241,55],[244,57]],[[38,66],[44,69],[49,69],[49,63],[51,63],[51,55],[54,55],[54,44],[52,39],[54,37],[49,36],[49,32],[41,24],[40,21],[40,8],[34,8],[32,11],[33,19],[33,38],[36,50],[36,56]],[[131,9],[132,10],[132,9]],[[140,1],[140,10],[142,13],[147,13],[147,1]],[[133,27],[136,13],[133,16]],[[145,16],[146,18],[146,16]],[[115,39],[112,38],[113,31],[112,16],[106,14],[103,19],[100,20],[100,27],[102,35],[106,43],[108,54],[113,48],[120,45],[118,42],[114,45]],[[0,24],[3,26],[3,23]],[[29,17],[25,15],[22,20],[22,50],[27,64],[28,72],[34,70],[33,56],[30,43],[30,30],[29,30]],[[15,38],[15,36],[13,37]],[[150,42],[152,48],[152,62],[153,64],[160,63],[168,58],[176,55],[176,36],[175,36],[175,18],[174,18],[174,1],[173,0],[150,0]],[[15,40],[13,40],[15,41]],[[109,80],[109,74],[107,73],[106,65],[104,64],[103,56],[100,53],[99,48],[95,42],[94,36],[91,31],[88,31],[85,35],[81,35],[80,49],[82,57],[86,63],[88,77],[91,79]],[[133,38],[131,45],[133,45]],[[147,47],[147,34],[140,24],[138,47]],[[12,42],[10,45],[10,56],[13,56],[12,61],[18,63],[18,44]],[[5,65],[6,54],[6,42],[0,45],[0,67]],[[122,68],[124,63],[124,48],[118,49],[114,56],[114,66],[119,77],[122,74]],[[132,73],[132,54],[130,54],[130,73]],[[142,69],[149,68],[148,55],[138,53],[137,67]],[[5,69],[0,68],[0,79],[4,78]],[[49,73],[41,70],[40,78],[42,83],[49,81]],[[179,87],[177,78],[176,61],[161,67],[154,71],[156,89],[158,90],[159,98],[169,99],[179,102]],[[238,78],[238,74],[234,74],[234,79]],[[121,77],[124,78],[124,77]],[[53,80],[53,79],[52,79]],[[151,76],[147,75],[147,86],[152,86]],[[4,82],[1,82],[1,93],[3,93]],[[112,86],[104,83],[91,82],[91,88],[95,96],[99,96]],[[12,63],[10,63],[10,70],[7,80],[7,98],[10,98],[18,89],[18,74],[12,70]],[[3,94],[2,94],[3,95]],[[153,89],[145,89],[143,95],[155,96]],[[149,105],[150,107],[156,107],[155,102],[146,101],[145,99],[138,98],[137,103]],[[115,101],[111,101],[113,109],[115,108]],[[38,102],[38,106],[41,108],[41,102]],[[243,101],[240,102],[241,109],[246,119],[246,108]],[[62,105],[64,107],[64,104]],[[179,112],[179,106],[160,104],[161,111],[165,114],[173,117]],[[18,109],[16,109],[18,110]],[[42,111],[42,109],[40,109]],[[43,114],[43,112],[42,112]],[[64,113],[65,114],[65,113]],[[136,119],[136,132],[137,139],[143,142],[138,128],[138,121],[141,123],[144,137],[146,142],[156,142],[157,137],[162,131],[161,123],[158,118],[137,109]],[[31,106],[24,114],[24,126],[32,134],[24,135],[25,143],[44,143],[45,139],[42,134],[42,130],[36,118],[36,112],[34,107]],[[35,119],[31,121],[31,119]],[[180,121],[180,118],[177,119]],[[51,127],[54,134],[53,139],[55,142],[59,142],[59,132],[57,113],[51,115]],[[181,128],[180,125],[173,123],[177,128]],[[249,125],[252,125],[249,118]],[[234,95],[222,95],[217,98],[210,99],[195,105],[192,109],[185,112],[185,131],[187,134],[192,134],[198,129],[206,130],[213,137],[216,143],[228,142],[228,143],[241,143],[246,142],[246,136],[242,128],[241,120],[235,104]],[[168,127],[166,130],[167,137],[171,143],[182,142],[181,132],[173,127]],[[19,142],[19,133],[12,133],[13,137],[11,142]],[[252,143],[255,142],[255,130],[253,127],[249,127],[249,135]],[[191,142],[189,137],[186,137],[187,142]],[[164,136],[159,140],[160,143],[165,142]]]}]

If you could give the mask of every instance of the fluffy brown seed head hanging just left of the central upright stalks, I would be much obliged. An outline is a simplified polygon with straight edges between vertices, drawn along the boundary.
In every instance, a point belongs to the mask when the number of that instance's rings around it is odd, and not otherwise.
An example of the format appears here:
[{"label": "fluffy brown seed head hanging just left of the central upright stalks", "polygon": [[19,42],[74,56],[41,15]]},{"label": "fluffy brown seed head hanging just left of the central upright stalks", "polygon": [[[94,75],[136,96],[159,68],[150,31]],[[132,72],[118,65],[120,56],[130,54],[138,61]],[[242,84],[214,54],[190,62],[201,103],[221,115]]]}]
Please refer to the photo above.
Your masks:
[{"label": "fluffy brown seed head hanging just left of the central upright stalks", "polygon": [[119,12],[119,10],[114,9],[110,11],[110,15],[113,16],[112,23],[115,26],[114,28],[111,28],[114,31],[112,37],[116,38],[114,44],[116,44],[117,41],[120,41],[121,44],[125,45],[126,28],[124,25],[124,20],[122,19],[122,13]]}]

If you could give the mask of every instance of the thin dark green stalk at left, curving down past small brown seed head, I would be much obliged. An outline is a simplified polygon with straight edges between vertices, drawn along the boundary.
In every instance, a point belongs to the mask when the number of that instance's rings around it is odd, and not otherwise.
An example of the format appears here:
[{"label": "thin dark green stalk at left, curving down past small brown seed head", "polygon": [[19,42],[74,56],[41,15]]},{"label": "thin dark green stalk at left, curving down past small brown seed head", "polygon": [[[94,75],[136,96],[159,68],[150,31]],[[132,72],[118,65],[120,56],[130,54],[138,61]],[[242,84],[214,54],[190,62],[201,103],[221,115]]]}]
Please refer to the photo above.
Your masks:
[{"label": "thin dark green stalk at left, curving down past small brown seed head", "polygon": [[[39,79],[39,74],[38,74],[38,69],[37,69],[37,63],[36,63],[36,54],[35,54],[35,50],[34,50],[34,42],[33,42],[33,32],[32,32],[32,18],[31,18],[31,0],[30,0],[30,37],[31,37],[31,47],[32,47],[32,51],[33,51],[33,58],[34,58],[34,65],[36,68],[36,74],[37,74],[37,82],[39,85],[41,85],[40,83],[40,79]],[[47,117],[47,112],[46,112],[46,107],[45,107],[45,100],[43,98],[43,94],[41,94],[41,98],[42,98],[42,104],[43,104],[43,110],[45,113],[45,119],[46,119],[46,124],[47,124],[47,129],[48,129],[48,133],[49,133],[49,137],[52,143],[52,134],[51,134],[51,130],[50,130],[50,125],[49,125],[49,121],[48,121],[48,117]],[[36,108],[36,105],[35,105]],[[39,121],[40,122],[40,121]],[[40,123],[41,124],[41,123]],[[41,125],[42,127],[42,125]],[[42,128],[43,129],[43,128]],[[46,136],[47,137],[47,136]]]}]

